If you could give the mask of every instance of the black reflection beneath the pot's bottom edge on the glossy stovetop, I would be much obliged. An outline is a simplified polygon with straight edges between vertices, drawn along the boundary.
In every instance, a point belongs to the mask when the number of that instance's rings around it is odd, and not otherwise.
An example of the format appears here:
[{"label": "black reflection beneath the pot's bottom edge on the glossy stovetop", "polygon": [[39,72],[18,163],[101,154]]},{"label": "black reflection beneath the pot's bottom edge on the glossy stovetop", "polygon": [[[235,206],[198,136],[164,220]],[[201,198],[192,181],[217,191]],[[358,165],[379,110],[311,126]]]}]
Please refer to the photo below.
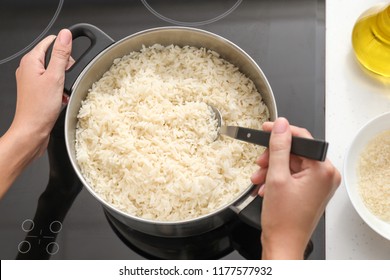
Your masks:
[{"label": "black reflection beneath the pot's bottom edge on the glossy stovetop", "polygon": [[[108,211],[105,211],[105,215],[123,243],[146,259],[212,260],[220,259],[234,250],[245,259],[261,259],[261,231],[239,219],[200,235],[166,238],[131,229],[115,219]],[[304,258],[307,259],[312,251],[313,242],[310,240]]]}]

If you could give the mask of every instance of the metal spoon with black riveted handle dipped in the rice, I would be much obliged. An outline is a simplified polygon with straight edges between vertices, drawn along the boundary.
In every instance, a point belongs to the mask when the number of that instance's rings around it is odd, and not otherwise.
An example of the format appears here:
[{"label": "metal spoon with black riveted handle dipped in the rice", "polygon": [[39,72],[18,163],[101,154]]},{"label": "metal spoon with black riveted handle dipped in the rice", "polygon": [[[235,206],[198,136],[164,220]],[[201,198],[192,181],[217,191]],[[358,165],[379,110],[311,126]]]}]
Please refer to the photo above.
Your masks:
[{"label": "metal spoon with black riveted handle dipped in the rice", "polygon": [[[223,134],[244,142],[269,147],[269,140],[271,136],[270,132],[241,126],[222,125],[221,112],[210,104],[208,104],[208,106],[211,109],[210,112],[213,112],[213,117],[217,119],[218,135]],[[309,159],[324,161],[328,151],[328,146],[328,142],[324,140],[293,136],[291,143],[291,153]]]}]

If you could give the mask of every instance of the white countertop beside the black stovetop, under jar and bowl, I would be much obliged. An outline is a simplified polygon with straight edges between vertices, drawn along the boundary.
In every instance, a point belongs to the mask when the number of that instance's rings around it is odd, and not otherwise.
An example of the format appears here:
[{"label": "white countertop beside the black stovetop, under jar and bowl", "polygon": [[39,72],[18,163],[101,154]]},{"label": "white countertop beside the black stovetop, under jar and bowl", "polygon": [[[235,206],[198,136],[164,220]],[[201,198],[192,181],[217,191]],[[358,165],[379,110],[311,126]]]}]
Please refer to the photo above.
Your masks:
[{"label": "white countertop beside the black stovetop, under jar and bowl", "polygon": [[[340,172],[359,128],[390,111],[390,81],[386,84],[363,71],[351,45],[356,19],[378,3],[383,1],[326,1],[326,138],[328,157]],[[326,258],[390,259],[390,241],[363,222],[343,182],[326,210]]]}]

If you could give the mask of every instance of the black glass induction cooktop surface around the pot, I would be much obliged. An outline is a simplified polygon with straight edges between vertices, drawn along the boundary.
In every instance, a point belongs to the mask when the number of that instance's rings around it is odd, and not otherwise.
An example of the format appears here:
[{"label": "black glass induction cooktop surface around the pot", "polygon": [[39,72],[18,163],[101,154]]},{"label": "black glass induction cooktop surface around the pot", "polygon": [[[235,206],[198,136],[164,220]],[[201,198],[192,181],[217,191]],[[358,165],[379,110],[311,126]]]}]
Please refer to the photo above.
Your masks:
[{"label": "black glass induction cooktop surface around the pot", "polygon": [[[0,133],[12,122],[15,70],[48,34],[86,22],[114,40],[161,26],[216,33],[245,50],[265,73],[278,114],[325,132],[324,0],[2,0],[0,2]],[[75,42],[73,56],[85,48]],[[137,232],[107,213],[75,175],[65,148],[64,113],[47,153],[32,163],[0,201],[1,259],[259,259],[260,231],[232,220],[191,238]],[[259,211],[254,204],[251,211]],[[308,259],[325,258],[325,217]]]}]

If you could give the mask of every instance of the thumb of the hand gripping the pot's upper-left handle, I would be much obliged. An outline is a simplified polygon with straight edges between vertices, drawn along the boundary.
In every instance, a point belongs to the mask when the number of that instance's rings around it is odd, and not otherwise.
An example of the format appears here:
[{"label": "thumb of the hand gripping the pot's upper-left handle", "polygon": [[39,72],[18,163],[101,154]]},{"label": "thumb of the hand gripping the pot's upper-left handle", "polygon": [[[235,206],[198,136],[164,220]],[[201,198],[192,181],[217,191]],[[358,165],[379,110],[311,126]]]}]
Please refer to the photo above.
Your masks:
[{"label": "thumb of the hand gripping the pot's upper-left handle", "polygon": [[47,71],[61,77],[69,64],[71,51],[72,33],[68,29],[63,29],[58,33],[54,42]]}]

